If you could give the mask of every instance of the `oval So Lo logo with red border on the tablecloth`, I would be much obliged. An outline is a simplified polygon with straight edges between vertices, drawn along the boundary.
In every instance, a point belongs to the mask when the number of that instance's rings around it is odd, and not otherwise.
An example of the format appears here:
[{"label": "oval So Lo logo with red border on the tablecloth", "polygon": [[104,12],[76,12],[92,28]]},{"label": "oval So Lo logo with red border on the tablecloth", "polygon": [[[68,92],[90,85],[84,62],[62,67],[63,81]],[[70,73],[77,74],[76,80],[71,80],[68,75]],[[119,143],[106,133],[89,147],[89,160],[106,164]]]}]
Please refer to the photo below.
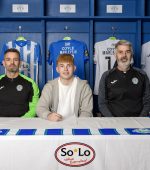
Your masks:
[{"label": "oval So Lo logo with red border on the tablecloth", "polygon": [[79,167],[91,163],[95,158],[95,151],[87,144],[70,142],[56,149],[55,158],[63,165]]}]

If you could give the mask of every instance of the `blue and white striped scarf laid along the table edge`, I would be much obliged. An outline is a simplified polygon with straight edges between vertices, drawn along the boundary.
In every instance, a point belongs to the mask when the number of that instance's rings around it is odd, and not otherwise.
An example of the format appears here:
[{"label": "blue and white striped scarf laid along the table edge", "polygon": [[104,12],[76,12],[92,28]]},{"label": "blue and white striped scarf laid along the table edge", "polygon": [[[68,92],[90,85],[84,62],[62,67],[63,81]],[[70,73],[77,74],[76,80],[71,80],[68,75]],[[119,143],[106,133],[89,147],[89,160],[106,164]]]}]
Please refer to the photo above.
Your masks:
[{"label": "blue and white striped scarf laid along the table edge", "polygon": [[6,135],[150,135],[150,128],[0,129],[0,136]]}]

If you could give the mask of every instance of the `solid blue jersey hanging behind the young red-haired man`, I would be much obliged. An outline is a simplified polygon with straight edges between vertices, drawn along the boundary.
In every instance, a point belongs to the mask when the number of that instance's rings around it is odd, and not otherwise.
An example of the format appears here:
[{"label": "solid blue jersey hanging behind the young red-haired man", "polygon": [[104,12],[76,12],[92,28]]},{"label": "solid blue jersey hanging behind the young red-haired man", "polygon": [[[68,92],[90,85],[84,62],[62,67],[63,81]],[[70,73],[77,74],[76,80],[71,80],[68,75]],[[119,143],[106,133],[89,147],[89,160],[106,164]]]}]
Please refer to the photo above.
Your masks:
[{"label": "solid blue jersey hanging behind the young red-haired man", "polygon": [[48,63],[53,65],[53,78],[59,76],[56,72],[56,61],[60,54],[69,53],[74,57],[76,65],[75,75],[85,79],[85,61],[89,59],[87,46],[82,41],[77,40],[59,40],[49,46]]}]

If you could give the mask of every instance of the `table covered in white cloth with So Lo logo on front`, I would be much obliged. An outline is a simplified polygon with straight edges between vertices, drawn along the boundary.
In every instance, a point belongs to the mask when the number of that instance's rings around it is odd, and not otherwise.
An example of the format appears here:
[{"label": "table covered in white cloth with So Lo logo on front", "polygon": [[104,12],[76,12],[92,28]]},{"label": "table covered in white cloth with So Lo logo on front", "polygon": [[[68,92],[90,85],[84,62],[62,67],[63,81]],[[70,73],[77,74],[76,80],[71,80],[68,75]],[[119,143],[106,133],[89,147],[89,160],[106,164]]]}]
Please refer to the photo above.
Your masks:
[{"label": "table covered in white cloth with So Lo logo on front", "polygon": [[[44,135],[45,129],[60,128],[63,135]],[[87,128],[91,135],[72,135],[72,129]],[[105,128],[116,129],[118,135],[100,134],[98,129]],[[124,128],[150,128],[150,118],[78,118],[56,123],[0,118],[0,129],[10,129],[0,135],[0,170],[149,170],[150,135],[130,135]],[[16,135],[19,129],[36,132]]]}]

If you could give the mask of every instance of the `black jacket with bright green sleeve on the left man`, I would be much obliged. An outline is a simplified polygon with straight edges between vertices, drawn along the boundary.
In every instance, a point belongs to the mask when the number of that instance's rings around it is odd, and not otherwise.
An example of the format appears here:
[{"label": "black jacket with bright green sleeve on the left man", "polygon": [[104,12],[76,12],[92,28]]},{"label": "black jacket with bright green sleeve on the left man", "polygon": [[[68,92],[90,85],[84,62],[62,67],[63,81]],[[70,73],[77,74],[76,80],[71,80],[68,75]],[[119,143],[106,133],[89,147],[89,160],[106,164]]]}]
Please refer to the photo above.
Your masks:
[{"label": "black jacket with bright green sleeve on the left man", "polygon": [[29,77],[0,76],[0,117],[34,117],[39,89]]}]

